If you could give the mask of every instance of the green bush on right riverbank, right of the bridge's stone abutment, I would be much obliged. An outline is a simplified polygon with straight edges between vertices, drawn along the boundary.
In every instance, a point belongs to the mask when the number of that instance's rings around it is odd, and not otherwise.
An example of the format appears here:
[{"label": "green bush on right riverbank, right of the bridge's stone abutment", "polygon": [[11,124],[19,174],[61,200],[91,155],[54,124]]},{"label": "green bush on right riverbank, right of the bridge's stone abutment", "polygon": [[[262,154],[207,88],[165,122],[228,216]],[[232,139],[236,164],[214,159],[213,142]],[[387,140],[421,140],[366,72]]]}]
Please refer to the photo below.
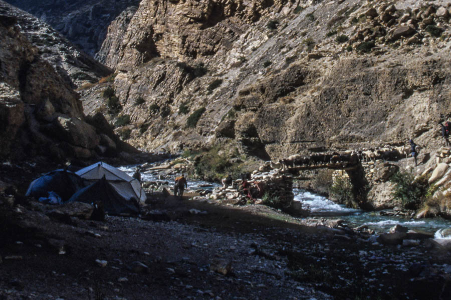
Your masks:
[{"label": "green bush on right riverbank, right of the bridge's stone abutment", "polygon": [[427,177],[415,175],[408,171],[398,171],[391,176],[394,183],[392,196],[399,200],[406,209],[417,209],[422,204],[429,191]]}]

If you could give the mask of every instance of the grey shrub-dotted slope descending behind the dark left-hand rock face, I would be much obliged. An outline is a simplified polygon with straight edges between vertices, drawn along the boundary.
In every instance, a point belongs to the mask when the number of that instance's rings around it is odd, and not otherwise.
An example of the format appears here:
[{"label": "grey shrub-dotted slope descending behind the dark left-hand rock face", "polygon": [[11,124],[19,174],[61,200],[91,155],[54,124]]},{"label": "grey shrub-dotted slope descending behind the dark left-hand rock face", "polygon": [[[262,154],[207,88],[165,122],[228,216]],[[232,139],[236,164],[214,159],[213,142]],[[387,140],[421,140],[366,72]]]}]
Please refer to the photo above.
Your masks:
[{"label": "grey shrub-dotted slope descending behind the dark left-hand rock face", "polygon": [[111,69],[79,50],[58,31],[35,16],[0,1],[0,12],[14,16],[21,32],[39,49],[41,57],[52,64],[72,87],[98,81]]}]

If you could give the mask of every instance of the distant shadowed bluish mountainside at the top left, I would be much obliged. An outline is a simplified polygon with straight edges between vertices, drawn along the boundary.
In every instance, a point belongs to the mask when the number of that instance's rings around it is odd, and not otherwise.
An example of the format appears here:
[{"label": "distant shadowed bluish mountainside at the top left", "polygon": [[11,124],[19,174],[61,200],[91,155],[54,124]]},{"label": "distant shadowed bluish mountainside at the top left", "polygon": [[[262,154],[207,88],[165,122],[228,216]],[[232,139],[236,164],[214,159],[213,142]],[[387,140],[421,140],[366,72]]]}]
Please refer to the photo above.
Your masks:
[{"label": "distant shadowed bluish mountainside at the top left", "polygon": [[139,0],[8,0],[8,3],[32,13],[61,32],[86,53],[99,51],[107,27],[124,9],[137,6]]}]

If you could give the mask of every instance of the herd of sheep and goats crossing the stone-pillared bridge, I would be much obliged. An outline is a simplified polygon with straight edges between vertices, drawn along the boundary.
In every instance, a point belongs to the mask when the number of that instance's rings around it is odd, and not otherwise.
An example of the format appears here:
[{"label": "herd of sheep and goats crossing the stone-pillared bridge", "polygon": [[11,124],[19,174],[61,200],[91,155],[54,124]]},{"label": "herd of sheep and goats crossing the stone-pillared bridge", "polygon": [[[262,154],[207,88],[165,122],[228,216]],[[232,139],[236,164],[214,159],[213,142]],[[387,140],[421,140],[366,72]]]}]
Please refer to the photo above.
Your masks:
[{"label": "herd of sheep and goats crossing the stone-pillared bridge", "polygon": [[316,153],[310,156],[300,154],[290,155],[288,158],[273,163],[274,168],[312,169],[321,167],[346,168],[358,165],[361,161],[398,160],[410,154],[410,146],[384,146],[369,149],[347,150],[343,152]]}]

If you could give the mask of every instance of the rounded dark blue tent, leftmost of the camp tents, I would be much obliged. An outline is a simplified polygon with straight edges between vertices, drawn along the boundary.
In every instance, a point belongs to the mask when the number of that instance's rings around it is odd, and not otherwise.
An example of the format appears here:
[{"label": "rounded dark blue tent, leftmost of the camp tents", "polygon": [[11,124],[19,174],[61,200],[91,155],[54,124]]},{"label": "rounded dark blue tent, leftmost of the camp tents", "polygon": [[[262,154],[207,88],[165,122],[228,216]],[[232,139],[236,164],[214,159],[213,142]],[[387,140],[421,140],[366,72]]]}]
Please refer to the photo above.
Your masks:
[{"label": "rounded dark blue tent, leftmost of the camp tents", "polygon": [[53,194],[56,193],[61,197],[62,202],[66,202],[77,190],[84,186],[83,178],[76,173],[57,169],[33,180],[25,195],[39,199],[41,197],[47,198],[53,192]]}]

